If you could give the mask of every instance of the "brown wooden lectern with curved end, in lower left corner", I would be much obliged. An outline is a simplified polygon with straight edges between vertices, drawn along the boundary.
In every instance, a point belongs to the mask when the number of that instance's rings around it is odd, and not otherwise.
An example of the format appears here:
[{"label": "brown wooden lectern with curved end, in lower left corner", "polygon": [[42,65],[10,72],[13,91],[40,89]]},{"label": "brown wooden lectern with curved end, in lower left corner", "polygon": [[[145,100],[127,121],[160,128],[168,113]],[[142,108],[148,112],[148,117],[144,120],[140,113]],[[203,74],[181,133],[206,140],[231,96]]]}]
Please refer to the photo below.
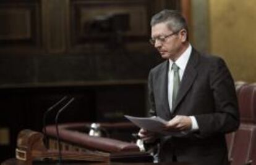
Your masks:
[{"label": "brown wooden lectern with curved end, in lower left corner", "polygon": [[[48,150],[43,143],[43,134],[25,129],[17,138],[15,156],[20,163],[32,164],[33,161],[56,161],[58,150]],[[108,162],[109,155],[103,153],[82,153],[78,151],[62,151],[64,161]]]}]

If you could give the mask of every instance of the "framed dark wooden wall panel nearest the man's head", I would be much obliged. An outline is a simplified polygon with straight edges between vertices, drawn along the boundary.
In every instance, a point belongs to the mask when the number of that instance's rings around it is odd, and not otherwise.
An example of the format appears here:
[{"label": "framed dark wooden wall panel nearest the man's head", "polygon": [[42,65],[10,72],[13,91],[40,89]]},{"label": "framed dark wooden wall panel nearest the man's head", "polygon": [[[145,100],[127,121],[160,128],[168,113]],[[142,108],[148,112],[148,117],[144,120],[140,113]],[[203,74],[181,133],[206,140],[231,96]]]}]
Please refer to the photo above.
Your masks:
[{"label": "framed dark wooden wall panel nearest the man's head", "polygon": [[[72,49],[81,47],[98,47],[97,44],[109,44],[114,38],[120,42],[147,42],[149,34],[150,2],[140,1],[70,1],[70,46]],[[128,17],[128,29],[118,35],[117,31],[100,30],[100,26],[93,26],[93,21],[103,20],[116,14]],[[109,22],[100,22],[109,23]],[[102,25],[104,26],[104,25]],[[96,30],[99,28],[99,30]],[[96,44],[95,44],[96,43]],[[114,43],[115,44],[115,43]],[[118,43],[117,43],[118,44]],[[122,43],[119,43],[122,44]],[[101,47],[102,48],[102,47]],[[104,47],[103,47],[104,48]],[[86,49],[83,49],[86,50]],[[91,49],[87,49],[91,50]],[[99,49],[98,49],[99,50]],[[102,49],[101,49],[102,50]]]}]

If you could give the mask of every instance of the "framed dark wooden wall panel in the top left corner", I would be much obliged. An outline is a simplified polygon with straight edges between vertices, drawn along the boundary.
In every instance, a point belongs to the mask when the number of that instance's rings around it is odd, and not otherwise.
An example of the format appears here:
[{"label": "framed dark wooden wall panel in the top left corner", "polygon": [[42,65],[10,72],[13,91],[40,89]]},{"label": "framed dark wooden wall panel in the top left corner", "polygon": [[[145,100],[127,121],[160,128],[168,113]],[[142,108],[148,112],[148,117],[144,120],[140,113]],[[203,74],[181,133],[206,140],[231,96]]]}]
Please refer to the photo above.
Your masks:
[{"label": "framed dark wooden wall panel in the top left corner", "polygon": [[0,23],[0,53],[41,51],[40,1],[1,1]]}]

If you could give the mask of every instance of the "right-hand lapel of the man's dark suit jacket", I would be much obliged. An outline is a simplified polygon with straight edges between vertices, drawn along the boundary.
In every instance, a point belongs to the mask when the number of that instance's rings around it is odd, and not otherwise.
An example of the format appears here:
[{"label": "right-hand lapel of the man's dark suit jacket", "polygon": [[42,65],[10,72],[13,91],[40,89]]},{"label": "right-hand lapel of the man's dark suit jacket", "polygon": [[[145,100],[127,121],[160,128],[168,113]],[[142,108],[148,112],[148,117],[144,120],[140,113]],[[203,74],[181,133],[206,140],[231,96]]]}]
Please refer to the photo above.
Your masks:
[{"label": "right-hand lapel of the man's dark suit jacket", "polygon": [[192,49],[189,62],[187,62],[187,66],[181,80],[181,85],[179,86],[179,92],[177,94],[176,103],[174,103],[173,112],[176,110],[177,105],[181,103],[181,100],[183,99],[183,97],[185,97],[193,82],[195,81],[195,77],[197,76],[197,70],[195,70],[195,65],[197,65],[197,62],[198,52],[195,49]]}]

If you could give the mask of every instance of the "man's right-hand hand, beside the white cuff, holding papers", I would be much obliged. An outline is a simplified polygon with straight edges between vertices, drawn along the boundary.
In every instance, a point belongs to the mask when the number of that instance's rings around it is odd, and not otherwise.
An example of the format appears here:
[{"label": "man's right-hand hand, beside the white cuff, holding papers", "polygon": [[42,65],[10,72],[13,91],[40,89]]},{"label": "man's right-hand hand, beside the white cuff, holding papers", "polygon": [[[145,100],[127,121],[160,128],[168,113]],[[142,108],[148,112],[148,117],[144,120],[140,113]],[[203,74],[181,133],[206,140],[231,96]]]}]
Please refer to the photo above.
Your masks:
[{"label": "man's right-hand hand, beside the white cuff, holding papers", "polygon": [[164,127],[166,131],[171,132],[181,132],[181,131],[189,131],[192,127],[192,121],[189,116],[181,116],[177,115]]}]

